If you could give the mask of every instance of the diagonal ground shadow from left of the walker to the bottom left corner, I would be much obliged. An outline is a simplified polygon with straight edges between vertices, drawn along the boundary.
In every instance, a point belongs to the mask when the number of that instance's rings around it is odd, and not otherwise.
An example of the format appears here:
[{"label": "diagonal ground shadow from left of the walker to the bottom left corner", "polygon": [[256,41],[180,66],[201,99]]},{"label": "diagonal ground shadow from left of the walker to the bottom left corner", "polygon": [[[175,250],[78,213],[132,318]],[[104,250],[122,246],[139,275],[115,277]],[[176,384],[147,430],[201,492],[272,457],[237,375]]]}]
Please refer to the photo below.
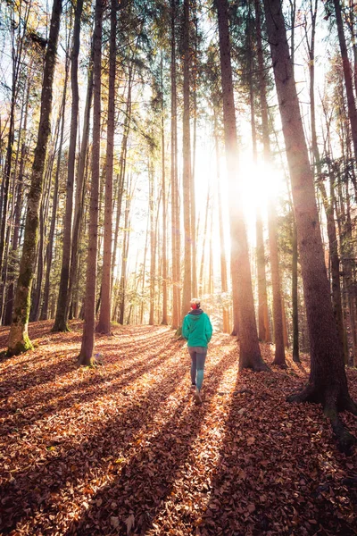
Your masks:
[{"label": "diagonal ground shadow from left of the walker to the bottom left corner", "polygon": [[[169,349],[166,357],[176,353],[177,348]],[[58,511],[58,507],[62,506],[55,500],[62,482],[73,489],[85,480],[86,475],[90,477],[92,473],[105,472],[108,465],[107,456],[120,456],[122,451],[128,448],[137,432],[152,420],[160,405],[176,389],[177,383],[187,375],[187,365],[177,360],[166,374],[173,374],[176,382],[173,381],[168,387],[162,388],[161,381],[157,381],[154,388],[149,389],[145,396],[138,397],[134,404],[128,402],[128,405],[120,406],[115,416],[104,425],[95,423],[94,431],[88,426],[79,445],[63,440],[54,451],[46,452],[36,465],[12,472],[13,481],[0,488],[0,496],[4,498],[0,531],[12,532],[17,522],[36,515],[38,509],[48,509],[49,515],[53,515],[52,511]],[[60,451],[58,454],[57,449]],[[56,474],[60,475],[60,485],[55,478]],[[36,533],[42,533],[40,527]]]}]

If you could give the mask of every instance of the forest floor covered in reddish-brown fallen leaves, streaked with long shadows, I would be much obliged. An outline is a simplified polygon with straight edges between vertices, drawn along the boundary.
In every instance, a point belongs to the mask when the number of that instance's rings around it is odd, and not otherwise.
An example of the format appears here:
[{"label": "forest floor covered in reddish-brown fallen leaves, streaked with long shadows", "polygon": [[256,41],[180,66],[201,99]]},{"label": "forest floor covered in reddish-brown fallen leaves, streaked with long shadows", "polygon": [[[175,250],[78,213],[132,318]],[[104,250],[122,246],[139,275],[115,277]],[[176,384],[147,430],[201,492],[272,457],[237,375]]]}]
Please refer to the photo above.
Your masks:
[{"label": "forest floor covered in reddish-brown fallen leaves, streaked with long shadows", "polygon": [[30,325],[33,351],[0,360],[0,534],[357,534],[356,450],[338,452],[320,406],[286,403],[307,356],[237,373],[237,341],[215,334],[196,406],[169,328],[115,327],[91,369],[76,364],[81,324],[52,323]]}]

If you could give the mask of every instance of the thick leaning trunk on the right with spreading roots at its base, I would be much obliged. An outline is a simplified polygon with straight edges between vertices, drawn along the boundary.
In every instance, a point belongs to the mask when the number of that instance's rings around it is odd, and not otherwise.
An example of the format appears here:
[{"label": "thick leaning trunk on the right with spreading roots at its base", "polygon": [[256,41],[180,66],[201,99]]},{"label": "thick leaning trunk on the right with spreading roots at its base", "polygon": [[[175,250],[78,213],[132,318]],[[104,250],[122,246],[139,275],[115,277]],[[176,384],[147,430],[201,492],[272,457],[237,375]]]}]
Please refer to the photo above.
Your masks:
[{"label": "thick leaning trunk on the right with spreading roots at its base", "polygon": [[295,402],[320,402],[325,415],[331,421],[340,448],[348,452],[355,439],[345,429],[338,412],[346,409],[357,415],[357,406],[348,392],[343,349],[329,297],[313,172],[303,132],[280,0],[264,0],[264,10],[292,182],[303,290],[311,340],[311,373],[308,384],[302,392],[288,399]]}]

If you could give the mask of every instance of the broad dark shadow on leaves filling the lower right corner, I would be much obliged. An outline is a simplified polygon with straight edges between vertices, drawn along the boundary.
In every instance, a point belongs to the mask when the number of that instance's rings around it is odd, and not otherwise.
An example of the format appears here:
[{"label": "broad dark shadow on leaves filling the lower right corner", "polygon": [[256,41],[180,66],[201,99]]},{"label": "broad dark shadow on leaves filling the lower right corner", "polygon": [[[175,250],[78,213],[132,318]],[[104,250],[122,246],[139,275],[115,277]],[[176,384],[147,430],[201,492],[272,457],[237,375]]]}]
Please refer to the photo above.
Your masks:
[{"label": "broad dark shadow on leaves filling the lower right corner", "polygon": [[199,534],[356,534],[320,407],[312,420],[311,406],[285,401],[292,378],[261,374],[238,376]]}]

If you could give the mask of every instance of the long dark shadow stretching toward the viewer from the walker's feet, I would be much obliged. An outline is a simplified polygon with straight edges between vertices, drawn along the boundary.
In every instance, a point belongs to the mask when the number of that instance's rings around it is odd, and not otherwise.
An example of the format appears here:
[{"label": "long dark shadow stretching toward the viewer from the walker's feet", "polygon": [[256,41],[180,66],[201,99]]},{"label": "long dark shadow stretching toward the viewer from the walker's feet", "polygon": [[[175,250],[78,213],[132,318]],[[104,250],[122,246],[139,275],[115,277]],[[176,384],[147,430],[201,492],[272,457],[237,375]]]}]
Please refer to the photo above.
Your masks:
[{"label": "long dark shadow stretching toward the viewer from the walker's feet", "polygon": [[[234,351],[222,357],[204,380],[207,398],[217,391],[225,371],[237,362]],[[174,376],[173,376],[174,377]],[[209,393],[209,395],[208,395]],[[97,491],[78,522],[71,523],[66,535],[126,533],[125,520],[135,515],[135,533],[146,534],[154,518],[170,495],[178,472],[182,471],[190,449],[200,433],[204,416],[210,410],[187,400],[179,402],[168,422],[145,443],[135,449],[112,482]],[[113,507],[114,505],[114,507]],[[117,530],[112,517],[118,520]]]}]

